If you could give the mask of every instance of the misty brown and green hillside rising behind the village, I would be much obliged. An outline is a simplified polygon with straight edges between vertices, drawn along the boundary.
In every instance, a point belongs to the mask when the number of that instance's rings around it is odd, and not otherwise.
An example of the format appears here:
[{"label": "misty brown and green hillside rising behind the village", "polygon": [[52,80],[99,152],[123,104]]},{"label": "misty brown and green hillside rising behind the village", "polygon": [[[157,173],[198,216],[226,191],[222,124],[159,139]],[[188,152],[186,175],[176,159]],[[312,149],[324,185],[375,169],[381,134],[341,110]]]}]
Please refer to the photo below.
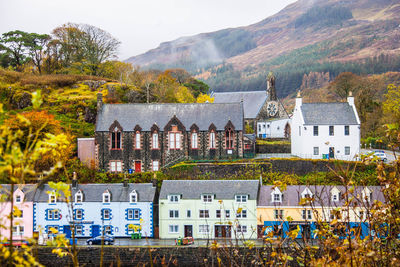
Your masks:
[{"label": "misty brown and green hillside rising behind the village", "polygon": [[400,69],[400,3],[299,0],[256,24],[182,37],[127,62],[182,67],[215,91],[261,90],[273,70],[281,97],[304,74],[376,74]]}]

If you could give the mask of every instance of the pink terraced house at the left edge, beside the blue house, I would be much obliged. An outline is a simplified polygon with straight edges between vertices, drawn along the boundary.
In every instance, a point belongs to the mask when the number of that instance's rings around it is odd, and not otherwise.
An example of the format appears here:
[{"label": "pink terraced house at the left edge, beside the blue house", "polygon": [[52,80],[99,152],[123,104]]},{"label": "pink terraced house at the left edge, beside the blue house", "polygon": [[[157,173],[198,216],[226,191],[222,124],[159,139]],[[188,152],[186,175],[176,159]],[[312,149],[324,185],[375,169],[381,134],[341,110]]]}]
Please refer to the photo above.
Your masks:
[{"label": "pink terraced house at the left edge, beside the blue house", "polygon": [[[34,185],[15,185],[13,192],[16,212],[13,219],[13,240],[27,240],[33,234],[33,202]],[[10,190],[11,185],[0,185],[0,241],[10,237]],[[14,210],[16,210],[14,208]],[[19,214],[18,214],[19,213]]]}]

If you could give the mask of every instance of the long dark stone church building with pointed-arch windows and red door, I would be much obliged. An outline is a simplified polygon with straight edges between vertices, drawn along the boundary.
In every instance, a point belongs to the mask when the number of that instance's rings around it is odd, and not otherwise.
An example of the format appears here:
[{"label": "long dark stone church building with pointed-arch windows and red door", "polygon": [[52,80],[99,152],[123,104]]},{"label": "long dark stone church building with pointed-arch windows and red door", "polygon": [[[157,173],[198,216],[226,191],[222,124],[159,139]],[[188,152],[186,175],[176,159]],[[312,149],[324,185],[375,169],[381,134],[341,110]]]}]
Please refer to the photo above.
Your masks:
[{"label": "long dark stone church building with pointed-arch windows and red door", "polygon": [[110,172],[157,171],[185,159],[243,157],[243,103],[103,104],[95,161]]}]

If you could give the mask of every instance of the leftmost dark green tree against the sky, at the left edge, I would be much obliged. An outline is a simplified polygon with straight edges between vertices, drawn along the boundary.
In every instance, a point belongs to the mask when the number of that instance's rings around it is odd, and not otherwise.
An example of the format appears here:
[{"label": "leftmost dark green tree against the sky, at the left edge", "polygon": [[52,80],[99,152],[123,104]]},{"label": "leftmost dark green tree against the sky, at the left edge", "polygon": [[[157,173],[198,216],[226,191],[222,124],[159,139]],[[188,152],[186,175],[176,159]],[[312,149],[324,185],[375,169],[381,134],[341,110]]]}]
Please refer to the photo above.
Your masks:
[{"label": "leftmost dark green tree against the sky, at the left edge", "polygon": [[7,51],[11,59],[11,65],[17,70],[22,70],[22,66],[29,60],[26,55],[26,45],[29,41],[29,33],[23,31],[10,31],[3,33],[0,43]]}]

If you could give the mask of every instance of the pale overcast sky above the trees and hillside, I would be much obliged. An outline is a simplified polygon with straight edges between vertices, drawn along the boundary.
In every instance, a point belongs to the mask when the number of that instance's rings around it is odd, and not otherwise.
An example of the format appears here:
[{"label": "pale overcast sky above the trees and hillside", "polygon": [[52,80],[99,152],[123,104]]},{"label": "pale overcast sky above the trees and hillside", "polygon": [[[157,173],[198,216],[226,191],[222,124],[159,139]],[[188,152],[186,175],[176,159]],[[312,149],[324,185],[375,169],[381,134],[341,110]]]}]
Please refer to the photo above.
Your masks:
[{"label": "pale overcast sky above the trees and hillside", "polygon": [[87,23],[122,42],[126,59],[160,43],[246,26],[295,0],[0,0],[0,33],[50,33],[67,22]]}]

